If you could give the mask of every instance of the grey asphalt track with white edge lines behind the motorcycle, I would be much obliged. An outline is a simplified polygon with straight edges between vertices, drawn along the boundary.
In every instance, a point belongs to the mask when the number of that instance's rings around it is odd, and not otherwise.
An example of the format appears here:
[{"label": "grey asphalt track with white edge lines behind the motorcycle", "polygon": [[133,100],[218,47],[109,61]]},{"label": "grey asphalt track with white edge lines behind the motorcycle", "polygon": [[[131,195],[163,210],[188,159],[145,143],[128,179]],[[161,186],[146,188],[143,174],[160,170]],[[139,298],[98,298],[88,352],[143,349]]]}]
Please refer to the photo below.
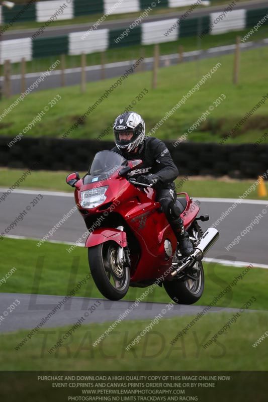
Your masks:
[{"label": "grey asphalt track with white edge lines behind the motorcycle", "polygon": [[[27,192],[27,191],[26,191]],[[26,210],[27,215],[23,221],[19,221],[14,229],[8,231],[8,235],[26,236],[30,238],[42,239],[56,225],[64,214],[67,214],[74,207],[74,197],[72,194],[49,193],[39,191],[43,198],[34,207],[31,201],[36,197],[38,191],[29,191],[29,193],[15,190],[1,202],[1,222],[0,233],[20,215],[27,206],[31,209]],[[0,189],[0,197],[3,189]],[[58,195],[57,195],[58,194]],[[191,195],[191,194],[190,194]],[[210,220],[201,223],[203,229],[209,227],[217,221],[223,212],[233,204],[234,200],[211,200],[199,199],[200,213],[209,214]],[[267,211],[267,214],[266,214]],[[259,214],[259,218],[255,218]],[[268,201],[250,201],[244,200],[229,215],[227,215],[217,225],[220,232],[220,238],[210,249],[207,256],[219,259],[247,261],[250,263],[267,264],[267,223],[268,223]],[[258,223],[252,224],[253,220]],[[249,233],[241,235],[241,232],[251,224]],[[8,230],[8,229],[7,229]],[[48,240],[58,240],[75,243],[86,231],[83,219],[78,213],[74,212]],[[237,236],[241,240],[235,244],[229,251],[227,247]],[[42,246],[41,246],[42,247]],[[66,245],[66,249],[69,246]],[[41,250],[41,248],[40,248]],[[67,252],[67,251],[66,251]]]}]

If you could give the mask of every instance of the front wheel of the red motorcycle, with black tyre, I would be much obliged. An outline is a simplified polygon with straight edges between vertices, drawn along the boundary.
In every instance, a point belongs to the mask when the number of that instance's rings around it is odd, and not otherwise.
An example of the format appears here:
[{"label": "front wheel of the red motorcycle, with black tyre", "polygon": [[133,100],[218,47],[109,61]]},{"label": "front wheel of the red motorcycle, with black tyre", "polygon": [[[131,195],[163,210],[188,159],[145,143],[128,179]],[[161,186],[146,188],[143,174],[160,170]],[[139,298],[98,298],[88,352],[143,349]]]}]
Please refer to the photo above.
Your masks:
[{"label": "front wheel of the red motorcycle, with black tyre", "polygon": [[104,297],[120,300],[129,288],[129,267],[117,264],[118,244],[109,241],[88,248],[88,263],[96,286]]}]

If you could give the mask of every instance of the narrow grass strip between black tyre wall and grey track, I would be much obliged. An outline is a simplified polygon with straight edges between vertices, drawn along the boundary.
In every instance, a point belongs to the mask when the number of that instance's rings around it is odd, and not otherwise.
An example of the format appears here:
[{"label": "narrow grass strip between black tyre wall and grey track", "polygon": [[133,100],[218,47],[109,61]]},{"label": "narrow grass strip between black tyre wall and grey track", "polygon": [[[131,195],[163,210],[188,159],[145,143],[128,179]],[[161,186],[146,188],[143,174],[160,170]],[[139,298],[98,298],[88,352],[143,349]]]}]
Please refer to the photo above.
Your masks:
[{"label": "narrow grass strip between black tyre wall and grey track", "polygon": [[[26,169],[25,169],[26,170]],[[7,169],[0,168],[0,187],[9,188],[15,183],[25,171],[24,169]],[[56,190],[73,192],[73,188],[68,186],[65,178],[68,173],[64,171],[32,171],[30,176],[20,185],[20,188],[27,189],[40,189],[40,190]],[[85,172],[80,172],[82,177]],[[180,185],[184,177],[176,179],[175,183]],[[218,198],[238,198],[246,189],[248,189],[254,180],[225,180],[224,179],[199,179],[195,180],[189,178],[188,181],[184,180],[182,186],[177,187],[178,191],[186,191],[190,196],[198,197],[218,197]],[[268,184],[265,184],[268,192]],[[250,199],[266,199],[266,197],[259,197],[257,188],[248,196]]]}]

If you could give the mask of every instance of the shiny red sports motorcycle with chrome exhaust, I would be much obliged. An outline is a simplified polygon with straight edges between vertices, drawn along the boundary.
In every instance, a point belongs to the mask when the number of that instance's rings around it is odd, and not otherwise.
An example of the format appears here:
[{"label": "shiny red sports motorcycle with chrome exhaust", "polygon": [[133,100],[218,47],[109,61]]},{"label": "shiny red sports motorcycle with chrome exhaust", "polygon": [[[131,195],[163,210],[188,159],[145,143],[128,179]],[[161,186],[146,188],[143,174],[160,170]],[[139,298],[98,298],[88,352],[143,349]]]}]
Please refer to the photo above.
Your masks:
[{"label": "shiny red sports motorcycle with chrome exhaust", "polygon": [[219,233],[214,228],[203,233],[198,220],[207,221],[208,215],[197,218],[199,206],[187,193],[178,193],[184,194],[176,205],[194,246],[193,254],[183,257],[155,202],[156,191],[131,179],[141,163],[101,151],[83,178],[78,173],[66,178],[75,187],[76,205],[90,232],[85,247],[93,279],[110,300],[124,297],[129,286],[156,283],[175,303],[195,303],[204,290],[202,258]]}]

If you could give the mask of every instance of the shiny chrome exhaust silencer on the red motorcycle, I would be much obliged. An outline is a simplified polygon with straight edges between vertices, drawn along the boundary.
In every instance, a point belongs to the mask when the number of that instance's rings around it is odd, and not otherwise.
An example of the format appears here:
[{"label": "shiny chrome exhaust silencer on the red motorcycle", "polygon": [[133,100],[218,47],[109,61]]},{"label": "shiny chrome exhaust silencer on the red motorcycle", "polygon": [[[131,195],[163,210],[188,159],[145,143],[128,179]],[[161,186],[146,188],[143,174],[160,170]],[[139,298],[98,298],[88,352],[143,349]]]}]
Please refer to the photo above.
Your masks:
[{"label": "shiny chrome exhaust silencer on the red motorcycle", "polygon": [[186,261],[171,273],[171,276],[177,275],[179,272],[193,265],[196,261],[201,261],[204,255],[209,251],[213,244],[218,240],[219,232],[215,228],[208,228],[202,236],[199,245],[195,248],[193,254],[186,258]]}]

